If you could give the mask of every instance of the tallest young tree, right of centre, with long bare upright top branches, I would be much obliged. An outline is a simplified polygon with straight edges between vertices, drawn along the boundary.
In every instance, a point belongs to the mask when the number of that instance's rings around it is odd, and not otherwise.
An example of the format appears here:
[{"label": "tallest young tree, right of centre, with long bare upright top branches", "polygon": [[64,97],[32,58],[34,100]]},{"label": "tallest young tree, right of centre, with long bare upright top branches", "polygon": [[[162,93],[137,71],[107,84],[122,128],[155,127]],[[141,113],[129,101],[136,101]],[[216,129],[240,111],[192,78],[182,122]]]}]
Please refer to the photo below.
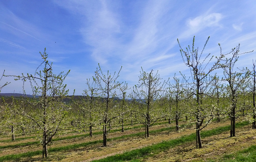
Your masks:
[{"label": "tallest young tree, right of centre, with long bare upright top branches", "polygon": [[[204,49],[206,47],[206,44],[209,40],[210,36],[206,40],[206,43],[204,44],[204,47],[202,51],[199,53],[198,48],[194,47],[195,42],[195,36],[193,38],[192,47],[188,46],[186,50],[183,50],[183,48],[180,45],[179,40],[178,44],[180,46],[180,53],[182,56],[182,59],[186,66],[190,68],[191,72],[191,78],[192,78],[192,87],[193,92],[192,94],[195,96],[196,99],[196,109],[192,114],[196,117],[196,148],[202,148],[202,142],[201,142],[201,136],[200,131],[205,128],[208,123],[213,119],[211,114],[207,114],[206,107],[202,105],[202,96],[205,94],[205,89],[207,89],[208,84],[206,83],[206,77],[213,72],[215,69],[220,68],[220,60],[224,57],[224,55],[221,54],[220,57],[216,57],[216,62],[214,62],[211,66],[210,63],[214,56],[210,56],[210,54],[207,54],[205,58],[203,57]],[[210,115],[210,116],[209,116]],[[208,120],[206,120],[206,116],[209,116]],[[206,120],[206,124],[202,126],[204,120]]]}]

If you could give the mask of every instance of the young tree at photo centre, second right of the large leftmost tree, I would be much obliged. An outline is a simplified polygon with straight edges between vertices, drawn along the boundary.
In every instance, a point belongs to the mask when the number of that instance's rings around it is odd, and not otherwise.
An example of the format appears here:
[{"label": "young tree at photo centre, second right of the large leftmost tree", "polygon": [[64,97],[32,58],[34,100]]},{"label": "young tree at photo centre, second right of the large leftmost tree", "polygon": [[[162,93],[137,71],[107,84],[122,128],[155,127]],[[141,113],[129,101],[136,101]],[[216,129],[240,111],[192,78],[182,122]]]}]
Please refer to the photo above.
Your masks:
[{"label": "young tree at photo centre, second right of the large leftmost tree", "polygon": [[142,69],[139,76],[139,84],[135,85],[135,93],[139,97],[140,102],[146,104],[146,106],[142,104],[142,107],[135,110],[135,112],[141,114],[145,119],[145,137],[149,137],[150,126],[164,114],[163,109],[157,106],[157,99],[160,98],[160,92],[164,86],[160,80],[161,78],[158,72],[154,75],[153,70],[147,73]]}]

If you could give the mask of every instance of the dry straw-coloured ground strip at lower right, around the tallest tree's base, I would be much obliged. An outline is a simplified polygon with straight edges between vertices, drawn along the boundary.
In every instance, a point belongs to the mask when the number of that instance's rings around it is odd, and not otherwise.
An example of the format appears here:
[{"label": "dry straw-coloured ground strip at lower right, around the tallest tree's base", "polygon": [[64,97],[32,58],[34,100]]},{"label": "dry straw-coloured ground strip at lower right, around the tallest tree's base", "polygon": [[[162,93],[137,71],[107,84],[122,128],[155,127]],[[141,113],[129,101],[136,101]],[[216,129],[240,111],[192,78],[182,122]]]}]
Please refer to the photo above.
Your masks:
[{"label": "dry straw-coloured ground strip at lower right, around the tallest tree's base", "polygon": [[251,125],[236,129],[236,136],[230,132],[202,139],[203,148],[196,149],[195,142],[188,142],[160,154],[144,158],[143,162],[188,162],[216,160],[224,154],[235,153],[256,144],[256,130]]}]

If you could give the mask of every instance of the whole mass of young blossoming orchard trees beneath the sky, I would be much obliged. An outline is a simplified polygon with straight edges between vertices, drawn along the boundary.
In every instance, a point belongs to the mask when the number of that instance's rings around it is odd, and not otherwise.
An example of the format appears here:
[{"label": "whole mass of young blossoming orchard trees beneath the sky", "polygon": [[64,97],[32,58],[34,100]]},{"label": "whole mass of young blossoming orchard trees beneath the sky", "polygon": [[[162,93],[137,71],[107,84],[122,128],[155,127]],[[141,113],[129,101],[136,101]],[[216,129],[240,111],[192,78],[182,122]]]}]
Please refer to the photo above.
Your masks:
[{"label": "whole mass of young blossoming orchard trees beneath the sky", "polygon": [[[158,72],[154,74],[153,70],[145,72],[142,69],[138,84],[130,89],[126,82],[118,82],[122,67],[117,73],[107,71],[105,74],[99,65],[95,76],[87,80],[83,96],[70,96],[68,100],[68,90],[63,82],[69,72],[54,74],[45,49],[43,54],[40,53],[43,62],[35,74],[14,76],[16,80],[30,82],[34,98],[3,102],[0,122],[11,127],[13,140],[17,122],[22,123],[19,125],[23,126],[23,131],[25,127],[31,130],[36,126],[43,145],[43,157],[48,156],[47,145],[57,132],[74,130],[68,123],[78,125],[82,132],[89,128],[90,136],[93,128],[102,130],[103,146],[107,146],[110,130],[121,125],[124,132],[124,123],[128,121],[144,124],[147,138],[150,126],[160,118],[168,118],[169,123],[174,120],[176,131],[180,128],[179,120],[187,120],[188,126],[196,130],[196,148],[202,148],[200,131],[215,117],[217,122],[221,117],[230,118],[230,136],[235,136],[238,118],[250,120],[256,128],[255,62],[252,70],[237,71],[235,63],[239,55],[244,54],[239,53],[239,46],[228,54],[222,54],[220,48],[217,57],[205,55],[209,38],[201,51],[194,47],[194,38],[192,46],[185,49],[178,41],[191,76],[174,76],[171,84],[170,80],[162,81]],[[221,78],[213,73],[216,69],[223,69]]]}]

